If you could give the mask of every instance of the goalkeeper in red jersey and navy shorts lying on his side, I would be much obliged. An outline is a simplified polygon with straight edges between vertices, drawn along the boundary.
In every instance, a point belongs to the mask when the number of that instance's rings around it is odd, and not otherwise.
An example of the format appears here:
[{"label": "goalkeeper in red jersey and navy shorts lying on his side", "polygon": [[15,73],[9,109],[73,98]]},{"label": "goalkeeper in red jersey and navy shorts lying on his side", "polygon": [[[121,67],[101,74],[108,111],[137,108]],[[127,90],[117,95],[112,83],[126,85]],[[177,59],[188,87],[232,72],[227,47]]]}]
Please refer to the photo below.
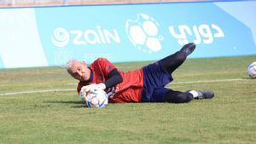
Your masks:
[{"label": "goalkeeper in red jersey and navy shorts lying on his side", "polygon": [[69,60],[67,72],[79,80],[77,91],[86,95],[95,89],[103,89],[108,101],[124,102],[172,102],[183,103],[194,99],[212,99],[211,90],[177,91],[165,86],[172,82],[172,72],[181,66],[195,50],[195,43],[188,43],[173,55],[148,66],[121,72],[109,60],[98,58],[90,66],[84,61]]}]

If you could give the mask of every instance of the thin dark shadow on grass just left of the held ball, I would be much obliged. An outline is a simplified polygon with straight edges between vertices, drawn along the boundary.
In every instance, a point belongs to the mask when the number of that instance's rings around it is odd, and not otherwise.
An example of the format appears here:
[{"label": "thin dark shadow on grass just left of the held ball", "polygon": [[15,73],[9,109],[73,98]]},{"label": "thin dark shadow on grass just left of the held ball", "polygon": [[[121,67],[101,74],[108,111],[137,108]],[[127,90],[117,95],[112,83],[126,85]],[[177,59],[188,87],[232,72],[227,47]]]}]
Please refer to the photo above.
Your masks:
[{"label": "thin dark shadow on grass just left of the held ball", "polygon": [[84,108],[84,107],[86,108],[86,105],[84,104],[83,101],[44,101],[44,103],[67,104],[69,107],[73,107],[73,108]]}]

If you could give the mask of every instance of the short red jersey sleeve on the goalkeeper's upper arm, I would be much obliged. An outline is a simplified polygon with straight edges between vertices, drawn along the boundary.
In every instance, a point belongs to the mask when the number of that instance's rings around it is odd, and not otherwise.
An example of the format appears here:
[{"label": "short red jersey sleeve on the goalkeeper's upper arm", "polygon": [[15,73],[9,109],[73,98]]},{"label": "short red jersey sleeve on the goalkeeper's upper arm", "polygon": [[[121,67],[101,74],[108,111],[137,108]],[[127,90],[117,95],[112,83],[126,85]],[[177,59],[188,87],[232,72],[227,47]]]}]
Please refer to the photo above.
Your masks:
[{"label": "short red jersey sleeve on the goalkeeper's upper arm", "polygon": [[100,66],[102,72],[105,76],[108,76],[109,72],[111,72],[113,69],[116,68],[109,60],[105,58],[99,58],[97,59],[98,66]]}]

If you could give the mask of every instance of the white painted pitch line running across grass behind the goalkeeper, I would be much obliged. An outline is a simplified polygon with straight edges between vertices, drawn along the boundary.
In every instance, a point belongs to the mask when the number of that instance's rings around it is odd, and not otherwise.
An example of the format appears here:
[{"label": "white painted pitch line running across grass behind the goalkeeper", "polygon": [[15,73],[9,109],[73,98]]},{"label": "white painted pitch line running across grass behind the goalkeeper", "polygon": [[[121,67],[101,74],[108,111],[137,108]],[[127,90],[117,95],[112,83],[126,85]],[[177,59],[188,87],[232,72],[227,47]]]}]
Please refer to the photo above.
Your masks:
[{"label": "white painted pitch line running across grass behind the goalkeeper", "polygon": [[[191,82],[172,82],[172,84],[197,84],[197,83],[215,83],[215,82],[233,82],[233,81],[247,81],[248,79],[216,79],[216,80],[206,80],[206,81],[191,81]],[[77,84],[68,84],[77,85]],[[35,93],[49,93],[49,92],[63,92],[63,91],[73,91],[76,89],[43,89],[43,90],[31,90],[31,91],[17,91],[0,93],[0,95],[20,95],[20,94],[35,94]]]}]

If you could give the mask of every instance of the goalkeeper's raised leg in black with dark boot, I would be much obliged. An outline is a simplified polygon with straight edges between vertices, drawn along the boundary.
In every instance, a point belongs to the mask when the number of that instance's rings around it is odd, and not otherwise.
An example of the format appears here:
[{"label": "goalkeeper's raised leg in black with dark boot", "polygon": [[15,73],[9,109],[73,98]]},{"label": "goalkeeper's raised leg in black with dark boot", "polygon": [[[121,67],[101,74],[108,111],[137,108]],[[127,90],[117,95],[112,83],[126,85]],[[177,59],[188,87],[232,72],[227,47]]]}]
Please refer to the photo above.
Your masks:
[{"label": "goalkeeper's raised leg in black with dark boot", "polygon": [[182,49],[177,51],[173,55],[169,55],[166,58],[160,60],[162,66],[171,75],[178,66],[181,66],[186,60],[187,56],[190,55],[195,50],[195,43],[188,43],[183,46]]}]

